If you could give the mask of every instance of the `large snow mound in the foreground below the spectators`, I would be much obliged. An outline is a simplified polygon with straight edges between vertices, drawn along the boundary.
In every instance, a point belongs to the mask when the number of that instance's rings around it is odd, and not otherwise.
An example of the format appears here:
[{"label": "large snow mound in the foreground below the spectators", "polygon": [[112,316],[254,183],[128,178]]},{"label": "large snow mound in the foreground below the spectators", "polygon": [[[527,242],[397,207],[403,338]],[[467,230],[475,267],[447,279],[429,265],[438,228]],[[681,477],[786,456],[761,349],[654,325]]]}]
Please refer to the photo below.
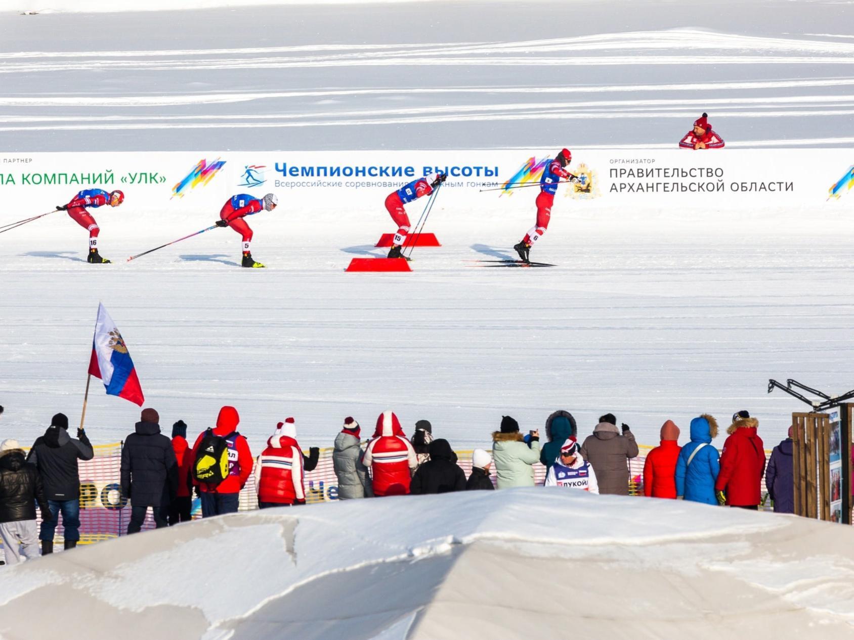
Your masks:
[{"label": "large snow mound in the foreground below the spectators", "polygon": [[851,530],[560,489],[197,521],[0,572],[3,637],[854,636]]}]

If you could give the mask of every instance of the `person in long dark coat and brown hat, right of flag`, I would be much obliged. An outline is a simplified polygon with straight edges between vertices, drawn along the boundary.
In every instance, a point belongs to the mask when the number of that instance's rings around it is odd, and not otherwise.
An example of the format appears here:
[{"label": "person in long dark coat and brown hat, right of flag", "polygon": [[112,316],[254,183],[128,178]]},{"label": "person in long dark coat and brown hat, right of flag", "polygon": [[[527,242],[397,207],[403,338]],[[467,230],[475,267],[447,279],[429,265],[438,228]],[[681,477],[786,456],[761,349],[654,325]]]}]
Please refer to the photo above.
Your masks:
[{"label": "person in long dark coat and brown hat, right of flag", "polygon": [[155,526],[167,527],[160,509],[164,499],[174,497],[178,490],[178,461],[172,440],[160,431],[160,416],[154,409],[143,409],[141,422],[125,439],[121,450],[121,495],[131,500],[131,522],[127,532],[136,533],[143,527],[149,507],[155,516]]}]

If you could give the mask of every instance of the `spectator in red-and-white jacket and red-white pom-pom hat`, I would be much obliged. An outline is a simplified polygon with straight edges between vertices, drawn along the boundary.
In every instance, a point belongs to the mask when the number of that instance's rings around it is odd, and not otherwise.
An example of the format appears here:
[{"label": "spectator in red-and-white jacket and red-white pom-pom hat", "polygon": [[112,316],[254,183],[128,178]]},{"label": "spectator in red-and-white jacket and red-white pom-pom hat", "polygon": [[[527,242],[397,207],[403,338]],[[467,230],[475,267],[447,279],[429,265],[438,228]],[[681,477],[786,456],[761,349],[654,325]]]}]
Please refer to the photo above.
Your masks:
[{"label": "spectator in red-and-white jacket and red-white pom-pom hat", "polygon": [[260,509],[306,503],[302,450],[296,441],[296,424],[286,418],[276,425],[266,449],[255,463],[255,489]]}]

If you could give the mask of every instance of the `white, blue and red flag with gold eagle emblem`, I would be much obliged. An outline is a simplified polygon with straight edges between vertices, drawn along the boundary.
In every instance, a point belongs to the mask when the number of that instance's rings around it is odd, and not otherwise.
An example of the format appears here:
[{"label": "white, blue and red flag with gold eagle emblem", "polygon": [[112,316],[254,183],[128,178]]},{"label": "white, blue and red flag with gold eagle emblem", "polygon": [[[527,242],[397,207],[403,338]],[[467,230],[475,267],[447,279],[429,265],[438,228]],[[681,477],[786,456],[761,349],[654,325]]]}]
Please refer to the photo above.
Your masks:
[{"label": "white, blue and red flag with gold eagle emblem", "polygon": [[101,378],[108,395],[119,396],[139,406],[143,405],[145,397],[143,388],[139,386],[137,369],[134,369],[125,340],[121,337],[119,329],[116,329],[113,318],[109,317],[104,305],[98,305],[89,373]]}]

